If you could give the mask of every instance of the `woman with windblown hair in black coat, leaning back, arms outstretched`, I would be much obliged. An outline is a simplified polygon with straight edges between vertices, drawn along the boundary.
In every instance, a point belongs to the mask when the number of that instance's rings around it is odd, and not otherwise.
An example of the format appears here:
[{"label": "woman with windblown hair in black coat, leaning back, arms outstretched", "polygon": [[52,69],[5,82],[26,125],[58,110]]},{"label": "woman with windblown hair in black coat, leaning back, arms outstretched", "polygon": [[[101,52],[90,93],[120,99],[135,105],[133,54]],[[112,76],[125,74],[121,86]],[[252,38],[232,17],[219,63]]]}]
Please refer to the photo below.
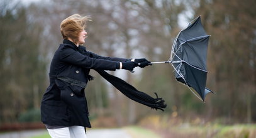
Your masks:
[{"label": "woman with windblown hair in black coat, leaning back, arms outstretched", "polygon": [[111,58],[86,51],[89,16],[74,14],[64,19],[60,31],[64,38],[55,51],[50,65],[50,85],[42,98],[42,122],[51,137],[86,137],[85,127],[91,127],[84,88],[94,70],[133,70],[145,67],[150,61],[142,59]]}]

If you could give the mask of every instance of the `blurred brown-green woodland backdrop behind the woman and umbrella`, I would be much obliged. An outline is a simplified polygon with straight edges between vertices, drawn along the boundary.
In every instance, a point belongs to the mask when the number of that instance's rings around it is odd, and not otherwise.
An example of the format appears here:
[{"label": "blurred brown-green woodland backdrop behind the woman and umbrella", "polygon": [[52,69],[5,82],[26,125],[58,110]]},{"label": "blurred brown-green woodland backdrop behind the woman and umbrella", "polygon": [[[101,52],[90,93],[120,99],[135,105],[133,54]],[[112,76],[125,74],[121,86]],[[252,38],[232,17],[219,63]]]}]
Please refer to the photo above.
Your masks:
[{"label": "blurred brown-green woodland backdrop behind the woman and umbrella", "polygon": [[216,94],[209,94],[206,103],[175,81],[170,65],[136,68],[135,73],[110,72],[149,95],[157,92],[168,105],[165,112],[131,101],[91,70],[96,79],[89,82],[86,97],[92,120],[110,117],[122,126],[160,115],[183,120],[199,117],[204,123],[255,123],[255,7],[253,0],[2,0],[0,124],[40,121],[50,61],[62,43],[59,25],[75,13],[91,16],[85,46],[104,56],[168,60],[175,36],[200,15],[211,35],[207,86]]}]

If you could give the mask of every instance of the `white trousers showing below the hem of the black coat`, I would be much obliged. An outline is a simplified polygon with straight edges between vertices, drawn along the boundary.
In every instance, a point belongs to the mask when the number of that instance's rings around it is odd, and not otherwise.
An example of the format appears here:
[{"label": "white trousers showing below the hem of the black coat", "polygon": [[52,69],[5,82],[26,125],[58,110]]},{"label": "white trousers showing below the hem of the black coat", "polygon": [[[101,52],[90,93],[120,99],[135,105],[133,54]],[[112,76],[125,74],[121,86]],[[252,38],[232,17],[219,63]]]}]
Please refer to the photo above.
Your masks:
[{"label": "white trousers showing below the hem of the black coat", "polygon": [[47,129],[52,138],[86,138],[86,131],[82,126],[64,127],[61,129]]}]

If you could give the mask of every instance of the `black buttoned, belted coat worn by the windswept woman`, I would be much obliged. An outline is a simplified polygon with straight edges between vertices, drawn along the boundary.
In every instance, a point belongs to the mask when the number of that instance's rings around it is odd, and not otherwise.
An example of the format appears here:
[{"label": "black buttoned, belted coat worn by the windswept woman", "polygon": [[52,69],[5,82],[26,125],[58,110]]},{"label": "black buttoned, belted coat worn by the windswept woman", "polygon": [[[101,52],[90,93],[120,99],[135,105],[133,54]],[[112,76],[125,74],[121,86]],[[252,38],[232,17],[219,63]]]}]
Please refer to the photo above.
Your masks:
[{"label": "black buttoned, belted coat worn by the windswept woman", "polygon": [[84,88],[90,69],[116,70],[126,58],[110,58],[64,40],[50,65],[50,85],[42,98],[43,124],[91,127]]}]

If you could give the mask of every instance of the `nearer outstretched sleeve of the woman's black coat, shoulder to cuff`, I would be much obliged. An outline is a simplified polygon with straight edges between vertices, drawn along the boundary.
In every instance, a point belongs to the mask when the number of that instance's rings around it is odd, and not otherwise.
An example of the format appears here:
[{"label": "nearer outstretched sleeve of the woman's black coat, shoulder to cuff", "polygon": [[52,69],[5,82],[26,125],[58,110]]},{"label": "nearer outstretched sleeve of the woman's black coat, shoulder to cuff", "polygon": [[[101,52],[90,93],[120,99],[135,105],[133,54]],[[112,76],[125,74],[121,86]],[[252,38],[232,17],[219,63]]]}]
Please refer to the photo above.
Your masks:
[{"label": "nearer outstretched sleeve of the woman's black coat, shoulder to cuff", "polygon": [[72,65],[81,66],[82,68],[94,70],[116,70],[120,67],[118,61],[90,58],[69,47],[60,50],[60,60]]}]

